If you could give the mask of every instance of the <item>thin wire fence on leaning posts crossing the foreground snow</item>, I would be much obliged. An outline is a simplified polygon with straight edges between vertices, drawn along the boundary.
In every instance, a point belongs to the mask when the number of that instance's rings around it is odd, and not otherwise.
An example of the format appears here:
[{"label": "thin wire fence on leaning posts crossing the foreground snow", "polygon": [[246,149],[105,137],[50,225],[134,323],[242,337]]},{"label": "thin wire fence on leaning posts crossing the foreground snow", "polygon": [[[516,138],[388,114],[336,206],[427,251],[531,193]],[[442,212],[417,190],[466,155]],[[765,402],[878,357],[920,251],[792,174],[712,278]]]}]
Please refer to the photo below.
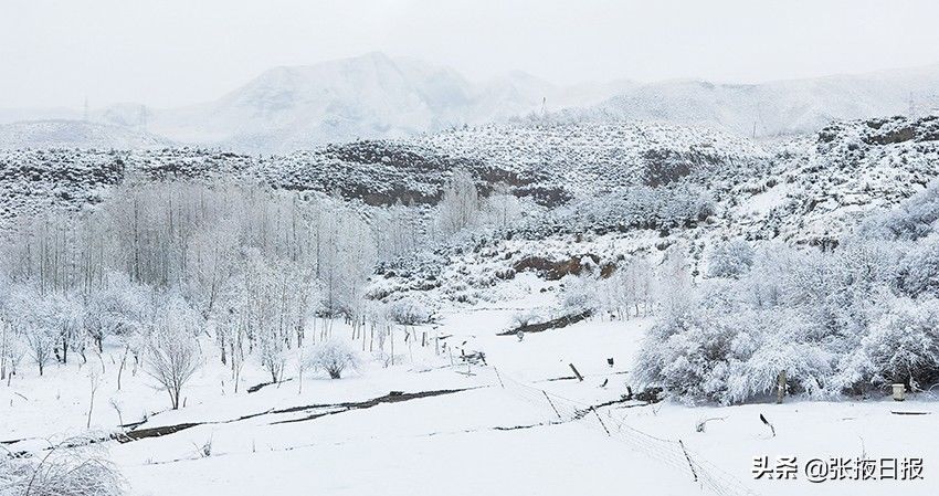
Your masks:
[{"label": "thin wire fence on leaning posts crossing the foreground snow", "polygon": [[[706,494],[720,496],[756,496],[735,476],[728,474],[705,456],[688,450],[680,440],[668,440],[645,433],[626,423],[626,418],[611,410],[600,413],[593,405],[571,400],[559,394],[519,382],[504,371],[493,369],[499,386],[511,395],[545,410],[555,422],[584,420],[580,425],[624,443],[643,455],[685,474],[696,482]],[[591,419],[593,416],[593,419]]]}]

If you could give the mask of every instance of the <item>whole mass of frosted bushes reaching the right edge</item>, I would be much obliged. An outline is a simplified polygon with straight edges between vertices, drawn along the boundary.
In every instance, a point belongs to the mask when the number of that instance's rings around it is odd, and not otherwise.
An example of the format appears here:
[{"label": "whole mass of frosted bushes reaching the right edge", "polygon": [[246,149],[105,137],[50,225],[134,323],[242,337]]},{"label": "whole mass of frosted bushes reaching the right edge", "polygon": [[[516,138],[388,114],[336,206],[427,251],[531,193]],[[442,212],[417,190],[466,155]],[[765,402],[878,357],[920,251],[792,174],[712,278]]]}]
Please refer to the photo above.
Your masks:
[{"label": "whole mass of frosted bushes reaching the right edge", "polygon": [[939,382],[939,184],[838,247],[731,241],[687,304],[663,308],[637,376],[686,401],[835,397]]}]

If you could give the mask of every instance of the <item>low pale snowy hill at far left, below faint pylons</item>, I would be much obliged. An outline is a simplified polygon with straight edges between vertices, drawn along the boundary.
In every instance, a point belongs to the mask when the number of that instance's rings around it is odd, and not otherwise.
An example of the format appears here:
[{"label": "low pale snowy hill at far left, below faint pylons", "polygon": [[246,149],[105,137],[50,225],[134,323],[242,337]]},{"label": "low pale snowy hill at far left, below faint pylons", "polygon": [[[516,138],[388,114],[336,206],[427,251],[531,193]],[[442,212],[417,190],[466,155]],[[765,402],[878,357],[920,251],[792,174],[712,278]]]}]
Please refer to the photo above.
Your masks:
[{"label": "low pale snowy hill at far left, below faint pylons", "polygon": [[34,120],[0,125],[0,148],[146,149],[172,141],[126,126],[84,120]]}]

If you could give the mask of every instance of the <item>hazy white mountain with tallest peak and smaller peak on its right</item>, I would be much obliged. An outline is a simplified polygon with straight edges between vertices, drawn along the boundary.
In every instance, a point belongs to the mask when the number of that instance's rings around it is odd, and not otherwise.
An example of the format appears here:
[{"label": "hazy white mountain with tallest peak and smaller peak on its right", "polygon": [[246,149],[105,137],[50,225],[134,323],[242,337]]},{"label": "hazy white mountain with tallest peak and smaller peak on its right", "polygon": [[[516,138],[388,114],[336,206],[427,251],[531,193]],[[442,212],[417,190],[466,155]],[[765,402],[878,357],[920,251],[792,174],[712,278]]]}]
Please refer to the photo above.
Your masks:
[{"label": "hazy white mountain with tallest peak and smaller peak on its right", "polygon": [[149,125],[183,143],[284,152],[502,122],[549,102],[557,108],[597,104],[619,87],[568,91],[521,72],[474,84],[447,67],[370,53],[272,68],[218,101],[157,110]]}]

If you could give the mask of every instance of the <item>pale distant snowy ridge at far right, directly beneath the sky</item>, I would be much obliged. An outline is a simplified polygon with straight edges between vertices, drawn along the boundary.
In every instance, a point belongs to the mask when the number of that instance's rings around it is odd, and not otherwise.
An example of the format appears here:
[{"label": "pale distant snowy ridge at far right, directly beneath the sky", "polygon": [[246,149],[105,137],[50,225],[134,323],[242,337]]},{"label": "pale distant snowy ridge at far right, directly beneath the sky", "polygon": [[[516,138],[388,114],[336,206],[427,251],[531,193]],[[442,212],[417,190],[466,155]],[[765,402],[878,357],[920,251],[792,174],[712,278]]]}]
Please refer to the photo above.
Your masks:
[{"label": "pale distant snowy ridge at far right, directly beneath the sky", "polygon": [[[912,107],[912,108],[910,108]],[[815,131],[833,119],[939,109],[939,65],[764,84],[641,85],[573,115],[707,125],[745,136]]]}]

